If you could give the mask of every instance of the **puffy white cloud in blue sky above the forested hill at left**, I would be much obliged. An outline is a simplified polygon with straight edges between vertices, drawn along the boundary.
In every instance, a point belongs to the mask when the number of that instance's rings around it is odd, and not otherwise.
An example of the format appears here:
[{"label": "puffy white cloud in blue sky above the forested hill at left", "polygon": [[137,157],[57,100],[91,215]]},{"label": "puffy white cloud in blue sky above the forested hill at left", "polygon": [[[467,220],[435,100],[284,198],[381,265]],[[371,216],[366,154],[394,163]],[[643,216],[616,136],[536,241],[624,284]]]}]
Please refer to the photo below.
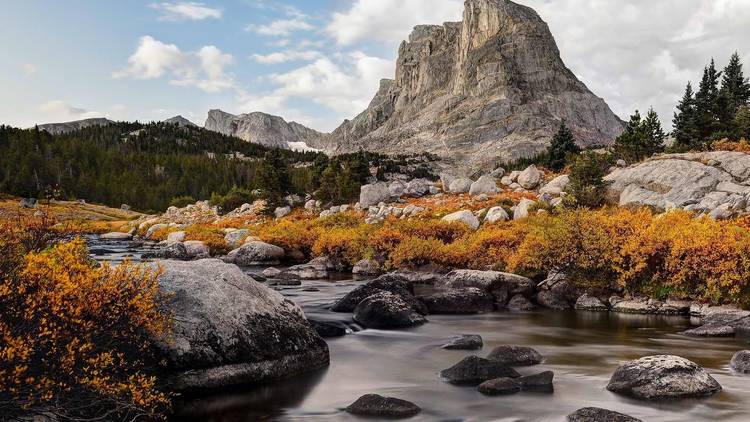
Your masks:
[{"label": "puffy white cloud in blue sky above the forested hill at left", "polygon": [[230,54],[212,45],[196,52],[183,52],[174,44],[165,44],[147,35],[141,37],[138,48],[128,59],[128,66],[112,76],[156,79],[168,74],[170,83],[174,85],[218,92],[235,84],[232,76],[225,71],[233,61]]}]

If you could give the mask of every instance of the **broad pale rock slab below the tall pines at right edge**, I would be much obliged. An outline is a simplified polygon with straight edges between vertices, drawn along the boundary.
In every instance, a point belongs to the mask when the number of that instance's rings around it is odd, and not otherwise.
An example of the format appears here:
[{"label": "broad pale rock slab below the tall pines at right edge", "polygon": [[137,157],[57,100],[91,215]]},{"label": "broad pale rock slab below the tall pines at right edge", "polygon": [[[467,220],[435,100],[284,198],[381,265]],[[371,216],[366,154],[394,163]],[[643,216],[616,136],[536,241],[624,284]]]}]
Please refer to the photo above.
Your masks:
[{"label": "broad pale rock slab below the tall pines at right edge", "polygon": [[612,202],[682,208],[725,218],[750,211],[750,154],[716,151],[661,155],[605,177]]}]

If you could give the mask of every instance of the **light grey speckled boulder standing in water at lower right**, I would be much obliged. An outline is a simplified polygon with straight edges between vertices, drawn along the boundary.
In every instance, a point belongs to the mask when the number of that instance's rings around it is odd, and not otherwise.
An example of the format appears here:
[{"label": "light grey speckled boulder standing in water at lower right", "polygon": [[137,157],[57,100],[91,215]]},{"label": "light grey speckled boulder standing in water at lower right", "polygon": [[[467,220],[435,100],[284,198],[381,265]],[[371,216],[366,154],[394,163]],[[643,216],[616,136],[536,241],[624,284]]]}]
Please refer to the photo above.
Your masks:
[{"label": "light grey speckled boulder standing in water at lower right", "polygon": [[694,362],[657,355],[620,365],[607,390],[641,400],[667,400],[708,397],[721,391],[721,385]]}]

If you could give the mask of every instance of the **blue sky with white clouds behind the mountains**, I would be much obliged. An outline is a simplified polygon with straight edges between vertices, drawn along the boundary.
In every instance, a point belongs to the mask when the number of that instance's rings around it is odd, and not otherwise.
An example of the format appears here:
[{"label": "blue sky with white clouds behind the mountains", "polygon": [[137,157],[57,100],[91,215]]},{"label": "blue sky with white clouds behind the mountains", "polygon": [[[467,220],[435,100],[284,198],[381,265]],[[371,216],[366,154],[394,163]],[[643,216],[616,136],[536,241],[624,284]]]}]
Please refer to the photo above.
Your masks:
[{"label": "blue sky with white clouds behind the mountains", "polygon": [[[688,81],[737,51],[750,66],[750,0],[519,0],[563,60],[623,119],[653,106],[671,128]],[[262,111],[331,131],[392,78],[418,24],[463,0],[6,0],[0,123],[89,117],[202,125]],[[746,74],[750,74],[748,67]]]}]

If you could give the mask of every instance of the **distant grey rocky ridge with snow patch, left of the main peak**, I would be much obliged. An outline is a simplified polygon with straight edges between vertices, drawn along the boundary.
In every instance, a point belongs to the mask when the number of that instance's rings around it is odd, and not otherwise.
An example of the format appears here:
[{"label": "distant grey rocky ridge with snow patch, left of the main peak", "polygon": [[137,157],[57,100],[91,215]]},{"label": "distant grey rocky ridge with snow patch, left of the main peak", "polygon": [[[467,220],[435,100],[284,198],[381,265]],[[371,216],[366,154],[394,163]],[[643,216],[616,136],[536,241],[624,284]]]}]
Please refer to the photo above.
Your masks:
[{"label": "distant grey rocky ridge with snow patch, left of the main peak", "polygon": [[323,135],[299,123],[287,123],[281,117],[260,112],[235,116],[211,110],[205,128],[248,142],[287,149],[299,143],[315,144]]}]

